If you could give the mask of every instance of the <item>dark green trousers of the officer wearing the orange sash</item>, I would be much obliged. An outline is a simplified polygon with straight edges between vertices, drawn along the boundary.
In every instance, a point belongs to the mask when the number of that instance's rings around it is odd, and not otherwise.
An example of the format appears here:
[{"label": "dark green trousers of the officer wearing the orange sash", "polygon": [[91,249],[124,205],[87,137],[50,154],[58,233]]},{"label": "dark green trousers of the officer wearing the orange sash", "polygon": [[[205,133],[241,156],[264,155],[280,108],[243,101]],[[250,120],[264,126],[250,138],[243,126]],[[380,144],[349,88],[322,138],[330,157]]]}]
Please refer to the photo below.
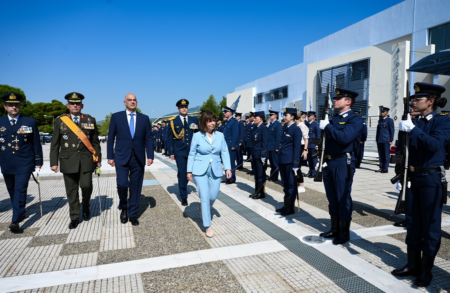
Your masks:
[{"label": "dark green trousers of the officer wearing the orange sash", "polygon": [[79,220],[79,193],[81,189],[81,201],[83,206],[89,206],[92,195],[92,171],[84,172],[82,165],[79,165],[76,173],[63,173],[65,193],[69,204],[70,220]]}]

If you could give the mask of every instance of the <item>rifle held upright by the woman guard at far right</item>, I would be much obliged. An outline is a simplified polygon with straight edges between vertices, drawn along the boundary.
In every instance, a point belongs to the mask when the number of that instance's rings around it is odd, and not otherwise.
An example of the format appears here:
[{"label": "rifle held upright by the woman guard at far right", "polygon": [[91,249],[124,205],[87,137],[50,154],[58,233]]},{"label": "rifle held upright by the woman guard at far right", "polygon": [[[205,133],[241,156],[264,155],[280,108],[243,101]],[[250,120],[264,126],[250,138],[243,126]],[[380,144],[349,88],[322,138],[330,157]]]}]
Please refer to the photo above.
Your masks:
[{"label": "rifle held upright by the woman guard at far right", "polygon": [[[408,119],[409,113],[409,81],[406,81],[406,88],[408,89],[406,97],[403,98],[403,115],[401,116],[401,120]],[[404,214],[404,194],[407,188],[407,169],[408,169],[408,133],[404,131],[398,132],[398,148],[400,150],[399,155],[390,155],[389,162],[392,164],[398,164],[399,168],[395,168],[399,171],[397,175],[395,175],[392,179],[390,179],[390,183],[396,184],[397,181],[401,182],[401,190],[398,194],[397,203],[395,205],[394,214]],[[400,139],[400,134],[402,139]]]}]

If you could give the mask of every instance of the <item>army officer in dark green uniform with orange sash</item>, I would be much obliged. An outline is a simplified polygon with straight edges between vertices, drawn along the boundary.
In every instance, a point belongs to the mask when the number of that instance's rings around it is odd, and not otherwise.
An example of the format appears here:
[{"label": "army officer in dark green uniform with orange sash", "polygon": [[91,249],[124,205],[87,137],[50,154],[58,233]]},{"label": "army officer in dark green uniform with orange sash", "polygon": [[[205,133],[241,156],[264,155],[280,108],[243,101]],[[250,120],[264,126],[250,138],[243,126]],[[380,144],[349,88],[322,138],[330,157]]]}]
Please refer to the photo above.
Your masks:
[{"label": "army officer in dark green uniform with orange sash", "polygon": [[92,172],[95,167],[101,167],[100,141],[95,118],[81,114],[84,96],[71,92],[64,98],[70,113],[61,115],[54,121],[50,169],[63,174],[70,213],[68,228],[75,229],[79,224],[78,186],[81,188],[83,219],[89,220]]}]

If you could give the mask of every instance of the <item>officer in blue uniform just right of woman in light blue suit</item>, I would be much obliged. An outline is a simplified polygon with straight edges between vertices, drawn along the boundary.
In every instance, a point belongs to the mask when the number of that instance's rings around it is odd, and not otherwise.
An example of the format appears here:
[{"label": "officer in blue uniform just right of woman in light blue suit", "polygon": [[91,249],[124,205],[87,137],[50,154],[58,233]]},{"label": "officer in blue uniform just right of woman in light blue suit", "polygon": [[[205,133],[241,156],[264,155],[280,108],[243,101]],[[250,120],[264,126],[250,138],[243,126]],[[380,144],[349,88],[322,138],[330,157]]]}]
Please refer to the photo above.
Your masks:
[{"label": "officer in blue uniform just right of woman in light blue suit", "polygon": [[226,123],[223,128],[223,136],[225,137],[226,146],[228,147],[229,160],[231,163],[231,178],[222,180],[222,183],[233,184],[236,182],[236,151],[239,143],[239,125],[236,118],[233,117],[235,110],[230,107],[223,108],[223,117]]}]

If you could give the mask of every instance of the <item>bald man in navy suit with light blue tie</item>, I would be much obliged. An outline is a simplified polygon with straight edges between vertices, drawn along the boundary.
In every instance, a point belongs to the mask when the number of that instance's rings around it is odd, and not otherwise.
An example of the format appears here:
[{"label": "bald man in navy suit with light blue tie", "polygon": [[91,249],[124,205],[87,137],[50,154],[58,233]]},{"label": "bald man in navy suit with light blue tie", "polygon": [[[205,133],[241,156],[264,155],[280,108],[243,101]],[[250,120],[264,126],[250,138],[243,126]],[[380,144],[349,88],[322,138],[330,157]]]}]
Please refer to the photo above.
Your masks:
[{"label": "bald man in navy suit with light blue tie", "polygon": [[[137,207],[145,167],[153,163],[153,134],[147,115],[136,112],[137,99],[132,93],[123,101],[125,111],[112,114],[108,131],[108,164],[115,167],[119,197],[120,223],[139,225]],[[115,145],[114,145],[115,140]],[[129,200],[128,197],[129,189]],[[129,217],[129,218],[128,218]]]}]

